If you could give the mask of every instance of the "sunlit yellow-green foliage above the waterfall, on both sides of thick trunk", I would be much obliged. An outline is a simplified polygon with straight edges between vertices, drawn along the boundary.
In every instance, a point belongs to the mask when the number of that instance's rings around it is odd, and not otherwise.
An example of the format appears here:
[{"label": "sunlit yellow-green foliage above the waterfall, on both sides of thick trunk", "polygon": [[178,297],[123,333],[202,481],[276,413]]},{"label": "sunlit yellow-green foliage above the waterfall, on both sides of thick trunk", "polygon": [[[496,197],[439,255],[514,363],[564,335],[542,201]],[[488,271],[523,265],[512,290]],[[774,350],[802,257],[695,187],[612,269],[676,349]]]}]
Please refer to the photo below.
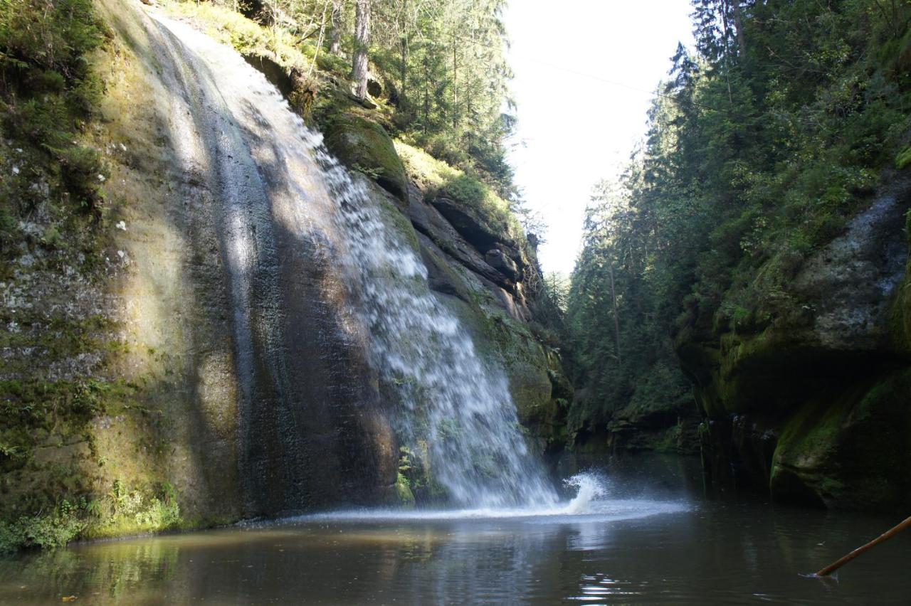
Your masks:
[{"label": "sunlit yellow-green foliage above the waterfall, on both sides of thick trunk", "polygon": [[[334,12],[324,0],[268,0],[235,12],[227,0],[173,5],[245,54],[269,56],[289,73],[321,82],[322,103],[350,103],[336,83],[351,63],[354,3]],[[369,50],[382,85],[377,112],[409,143],[476,175],[498,197],[517,199],[504,140],[515,117],[508,97],[504,0],[374,2]],[[322,73],[321,73],[322,72]],[[347,88],[344,84],[342,88]],[[341,94],[340,94],[341,93]],[[507,107],[507,112],[504,112]]]}]

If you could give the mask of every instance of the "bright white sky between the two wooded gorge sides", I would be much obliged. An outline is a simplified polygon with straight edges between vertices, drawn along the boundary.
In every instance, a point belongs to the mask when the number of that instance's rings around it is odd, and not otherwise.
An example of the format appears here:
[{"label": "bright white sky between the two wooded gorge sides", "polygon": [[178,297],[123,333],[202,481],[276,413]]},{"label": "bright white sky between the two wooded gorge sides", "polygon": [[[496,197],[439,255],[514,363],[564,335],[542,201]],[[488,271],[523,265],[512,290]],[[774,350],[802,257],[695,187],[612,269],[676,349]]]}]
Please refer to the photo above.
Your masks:
[{"label": "bright white sky between the two wooded gorge sides", "polygon": [[[518,104],[516,182],[548,225],[545,271],[569,273],[592,187],[616,177],[645,133],[652,91],[678,41],[692,45],[690,0],[512,0],[506,24]],[[597,79],[569,73],[597,76]]]}]

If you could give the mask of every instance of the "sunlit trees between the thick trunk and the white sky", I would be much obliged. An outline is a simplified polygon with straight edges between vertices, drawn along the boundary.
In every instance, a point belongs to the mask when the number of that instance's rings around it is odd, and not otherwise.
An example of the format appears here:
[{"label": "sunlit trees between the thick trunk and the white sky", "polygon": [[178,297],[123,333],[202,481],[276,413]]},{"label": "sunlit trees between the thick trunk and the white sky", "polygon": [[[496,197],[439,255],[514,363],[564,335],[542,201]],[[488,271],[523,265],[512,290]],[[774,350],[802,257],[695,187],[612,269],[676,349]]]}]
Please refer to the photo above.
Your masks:
[{"label": "sunlit trees between the thick trunk and the white sky", "polygon": [[374,3],[372,58],[394,89],[404,135],[452,166],[483,176],[511,197],[503,140],[508,106],[504,0]]}]

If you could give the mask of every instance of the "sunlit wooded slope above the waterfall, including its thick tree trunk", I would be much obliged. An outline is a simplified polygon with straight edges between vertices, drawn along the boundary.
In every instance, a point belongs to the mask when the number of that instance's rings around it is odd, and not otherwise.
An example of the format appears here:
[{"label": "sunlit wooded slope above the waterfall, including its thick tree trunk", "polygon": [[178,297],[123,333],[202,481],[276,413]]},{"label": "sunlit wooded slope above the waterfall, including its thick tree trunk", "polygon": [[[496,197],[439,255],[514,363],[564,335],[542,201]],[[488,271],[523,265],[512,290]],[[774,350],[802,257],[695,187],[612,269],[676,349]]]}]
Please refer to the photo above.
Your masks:
[{"label": "sunlit wooded slope above the waterfall, including its thick tree trunk", "polygon": [[[339,76],[348,76],[352,59],[356,62],[363,51],[367,67],[353,78],[365,74],[372,81],[366,93],[382,101],[379,109],[389,117],[389,126],[433,156],[483,175],[501,196],[512,194],[512,171],[503,147],[514,121],[503,112],[511,106],[502,22],[505,0],[210,4],[240,10],[267,27],[273,39],[302,51],[316,66],[334,67]],[[306,61],[300,67],[304,78],[319,79]],[[356,87],[355,95],[363,96]],[[316,98],[319,105],[319,93]]]}]

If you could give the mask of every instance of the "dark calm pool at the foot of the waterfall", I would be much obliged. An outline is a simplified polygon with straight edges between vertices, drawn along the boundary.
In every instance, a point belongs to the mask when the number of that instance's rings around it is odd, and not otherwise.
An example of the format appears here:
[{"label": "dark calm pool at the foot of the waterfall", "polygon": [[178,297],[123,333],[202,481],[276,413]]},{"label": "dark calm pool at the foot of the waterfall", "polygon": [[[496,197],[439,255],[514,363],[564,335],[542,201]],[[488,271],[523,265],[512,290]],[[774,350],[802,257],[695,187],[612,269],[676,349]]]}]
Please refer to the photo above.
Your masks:
[{"label": "dark calm pool at the foot of the waterfall", "polygon": [[[603,502],[589,515],[318,518],[28,553],[0,561],[0,602],[911,603],[911,533],[837,581],[801,576],[901,516],[666,495]],[[652,511],[665,512],[637,517]]]}]

